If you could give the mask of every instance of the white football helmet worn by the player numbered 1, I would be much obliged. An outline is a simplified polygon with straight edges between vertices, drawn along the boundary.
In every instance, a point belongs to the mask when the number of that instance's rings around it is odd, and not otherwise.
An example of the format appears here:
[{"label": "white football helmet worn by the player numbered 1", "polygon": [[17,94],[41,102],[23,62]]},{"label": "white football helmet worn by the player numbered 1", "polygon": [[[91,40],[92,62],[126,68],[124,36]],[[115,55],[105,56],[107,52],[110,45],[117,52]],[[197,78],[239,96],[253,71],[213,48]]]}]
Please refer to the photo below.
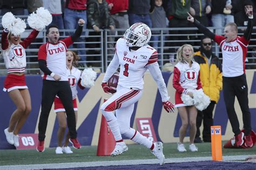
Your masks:
[{"label": "white football helmet worn by the player numbered 1", "polygon": [[126,45],[129,47],[142,47],[149,42],[150,38],[150,27],[144,23],[135,23],[124,33]]}]

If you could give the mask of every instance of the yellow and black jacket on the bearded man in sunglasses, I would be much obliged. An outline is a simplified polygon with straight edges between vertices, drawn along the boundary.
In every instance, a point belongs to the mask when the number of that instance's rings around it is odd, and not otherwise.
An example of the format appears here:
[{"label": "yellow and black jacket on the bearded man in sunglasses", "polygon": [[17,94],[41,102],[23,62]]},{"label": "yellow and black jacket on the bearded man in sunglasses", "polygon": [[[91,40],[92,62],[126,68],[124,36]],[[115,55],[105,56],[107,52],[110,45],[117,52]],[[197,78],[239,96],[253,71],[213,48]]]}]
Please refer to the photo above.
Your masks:
[{"label": "yellow and black jacket on the bearded man in sunglasses", "polygon": [[211,101],[218,102],[220,90],[222,90],[222,66],[217,56],[212,54],[209,67],[208,59],[200,51],[194,53],[194,60],[200,65],[200,80],[204,93],[211,98]]}]

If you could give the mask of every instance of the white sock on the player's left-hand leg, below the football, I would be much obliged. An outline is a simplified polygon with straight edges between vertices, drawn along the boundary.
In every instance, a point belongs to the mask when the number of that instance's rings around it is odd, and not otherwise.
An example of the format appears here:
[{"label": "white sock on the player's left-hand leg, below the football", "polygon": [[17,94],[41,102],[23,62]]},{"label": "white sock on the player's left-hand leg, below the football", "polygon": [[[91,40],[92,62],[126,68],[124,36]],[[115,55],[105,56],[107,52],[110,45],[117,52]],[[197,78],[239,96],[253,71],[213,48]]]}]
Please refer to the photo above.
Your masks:
[{"label": "white sock on the player's left-hand leg, below the football", "polygon": [[114,139],[116,141],[123,140],[120,129],[117,123],[117,118],[111,111],[102,110],[103,116],[106,118],[107,124],[113,133]]}]

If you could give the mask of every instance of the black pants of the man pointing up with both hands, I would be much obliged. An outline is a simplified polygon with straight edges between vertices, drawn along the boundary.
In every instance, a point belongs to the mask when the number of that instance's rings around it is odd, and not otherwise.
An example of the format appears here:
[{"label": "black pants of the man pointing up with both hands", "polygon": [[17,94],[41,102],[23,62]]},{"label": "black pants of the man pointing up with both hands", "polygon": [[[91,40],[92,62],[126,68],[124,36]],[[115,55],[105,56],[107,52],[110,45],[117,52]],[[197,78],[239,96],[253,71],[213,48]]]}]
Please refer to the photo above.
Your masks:
[{"label": "black pants of the man pointing up with both hands", "polygon": [[237,77],[223,76],[223,95],[228,119],[235,135],[240,133],[239,121],[234,109],[234,100],[237,96],[244,123],[245,135],[251,134],[251,113],[248,106],[248,87],[245,74]]}]

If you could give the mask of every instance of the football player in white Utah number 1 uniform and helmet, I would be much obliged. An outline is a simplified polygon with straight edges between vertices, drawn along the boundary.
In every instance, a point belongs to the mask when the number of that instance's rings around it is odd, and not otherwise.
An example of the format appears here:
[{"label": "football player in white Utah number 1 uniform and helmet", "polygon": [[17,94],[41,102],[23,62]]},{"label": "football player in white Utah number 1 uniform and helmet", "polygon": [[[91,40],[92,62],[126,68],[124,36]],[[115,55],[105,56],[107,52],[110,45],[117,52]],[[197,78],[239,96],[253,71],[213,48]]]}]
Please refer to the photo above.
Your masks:
[{"label": "football player in white Utah number 1 uniform and helmet", "polygon": [[[142,96],[143,76],[147,69],[157,82],[164,109],[167,112],[174,112],[173,104],[169,102],[167,88],[157,62],[157,50],[147,45],[150,38],[151,30],[149,26],[144,23],[135,23],[126,30],[124,38],[118,39],[113,59],[107,67],[102,81],[103,90],[105,93],[110,93],[112,88],[107,86],[107,81],[120,65],[117,92],[103,103],[100,109],[116,140],[116,147],[111,153],[112,156],[122,154],[128,150],[122,138],[124,136],[149,148],[158,158],[159,164],[163,165],[165,160],[163,144],[161,142],[153,143],[138,131],[130,128],[134,103],[138,102]],[[116,116],[113,115],[113,110],[116,110]]]}]

